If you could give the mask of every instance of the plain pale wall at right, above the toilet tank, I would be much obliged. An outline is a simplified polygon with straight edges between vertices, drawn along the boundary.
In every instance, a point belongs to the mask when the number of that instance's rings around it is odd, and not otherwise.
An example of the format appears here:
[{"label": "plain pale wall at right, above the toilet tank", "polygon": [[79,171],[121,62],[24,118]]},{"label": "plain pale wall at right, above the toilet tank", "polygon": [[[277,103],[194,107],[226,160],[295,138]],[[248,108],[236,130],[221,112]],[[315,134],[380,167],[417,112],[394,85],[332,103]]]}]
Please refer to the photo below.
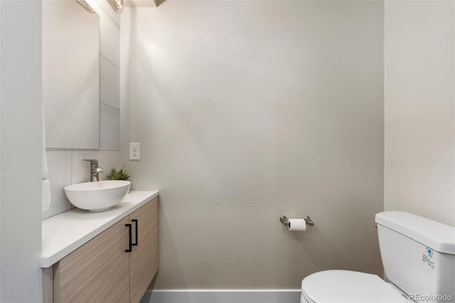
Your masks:
[{"label": "plain pale wall at right, above the toilet tank", "polygon": [[452,226],[454,46],[454,1],[386,1],[385,209]]}]

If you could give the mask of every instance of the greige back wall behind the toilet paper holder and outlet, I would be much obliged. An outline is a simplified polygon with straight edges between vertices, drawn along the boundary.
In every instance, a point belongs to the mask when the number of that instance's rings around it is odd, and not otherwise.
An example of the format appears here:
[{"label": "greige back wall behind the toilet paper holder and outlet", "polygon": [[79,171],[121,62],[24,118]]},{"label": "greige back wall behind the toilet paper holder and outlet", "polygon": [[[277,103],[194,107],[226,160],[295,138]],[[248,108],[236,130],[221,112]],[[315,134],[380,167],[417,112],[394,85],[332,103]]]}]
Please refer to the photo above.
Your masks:
[{"label": "greige back wall behind the toilet paper holder and outlet", "polygon": [[[122,14],[122,161],[159,189],[155,289],[382,274],[382,1],[166,1]],[[279,216],[309,215],[306,233]]]}]

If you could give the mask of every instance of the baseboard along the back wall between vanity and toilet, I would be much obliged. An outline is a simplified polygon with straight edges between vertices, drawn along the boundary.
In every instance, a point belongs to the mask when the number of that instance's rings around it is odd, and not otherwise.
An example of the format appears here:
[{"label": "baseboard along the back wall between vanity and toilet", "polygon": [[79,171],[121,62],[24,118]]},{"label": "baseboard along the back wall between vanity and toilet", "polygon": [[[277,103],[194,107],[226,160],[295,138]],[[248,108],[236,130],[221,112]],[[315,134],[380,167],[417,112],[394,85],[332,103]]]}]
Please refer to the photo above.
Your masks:
[{"label": "baseboard along the back wall between vanity and toilet", "polygon": [[152,290],[141,303],[299,303],[300,289]]}]

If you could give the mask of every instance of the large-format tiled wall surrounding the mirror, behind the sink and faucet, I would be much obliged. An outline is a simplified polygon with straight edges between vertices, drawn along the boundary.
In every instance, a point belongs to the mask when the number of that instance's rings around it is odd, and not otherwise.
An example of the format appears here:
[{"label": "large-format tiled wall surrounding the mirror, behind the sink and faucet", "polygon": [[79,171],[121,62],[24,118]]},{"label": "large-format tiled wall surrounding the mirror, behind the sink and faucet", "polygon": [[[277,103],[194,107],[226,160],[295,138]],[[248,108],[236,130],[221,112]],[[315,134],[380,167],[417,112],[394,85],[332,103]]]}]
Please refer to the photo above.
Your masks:
[{"label": "large-format tiled wall surrounding the mirror, behind the sink and faucet", "polygon": [[[63,188],[69,184],[90,181],[90,163],[83,159],[98,159],[106,179],[120,163],[120,16],[107,1],[97,0],[90,4],[100,15],[100,149],[47,149],[50,207],[43,211],[48,218],[71,209],[71,203]],[[55,29],[58,30],[57,28]],[[80,121],[80,123],[85,123]]]}]

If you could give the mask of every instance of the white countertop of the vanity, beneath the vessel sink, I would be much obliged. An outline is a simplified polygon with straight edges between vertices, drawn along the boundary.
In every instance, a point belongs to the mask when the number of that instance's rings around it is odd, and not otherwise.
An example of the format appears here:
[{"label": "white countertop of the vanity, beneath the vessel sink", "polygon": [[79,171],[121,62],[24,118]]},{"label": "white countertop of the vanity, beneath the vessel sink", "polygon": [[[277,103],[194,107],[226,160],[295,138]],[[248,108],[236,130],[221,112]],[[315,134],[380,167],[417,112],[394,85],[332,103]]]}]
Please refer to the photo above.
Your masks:
[{"label": "white countertop of the vanity, beneath the vessel sink", "polygon": [[91,213],[74,208],[41,221],[40,266],[52,266],[158,195],[159,191],[130,191],[108,211]]}]

